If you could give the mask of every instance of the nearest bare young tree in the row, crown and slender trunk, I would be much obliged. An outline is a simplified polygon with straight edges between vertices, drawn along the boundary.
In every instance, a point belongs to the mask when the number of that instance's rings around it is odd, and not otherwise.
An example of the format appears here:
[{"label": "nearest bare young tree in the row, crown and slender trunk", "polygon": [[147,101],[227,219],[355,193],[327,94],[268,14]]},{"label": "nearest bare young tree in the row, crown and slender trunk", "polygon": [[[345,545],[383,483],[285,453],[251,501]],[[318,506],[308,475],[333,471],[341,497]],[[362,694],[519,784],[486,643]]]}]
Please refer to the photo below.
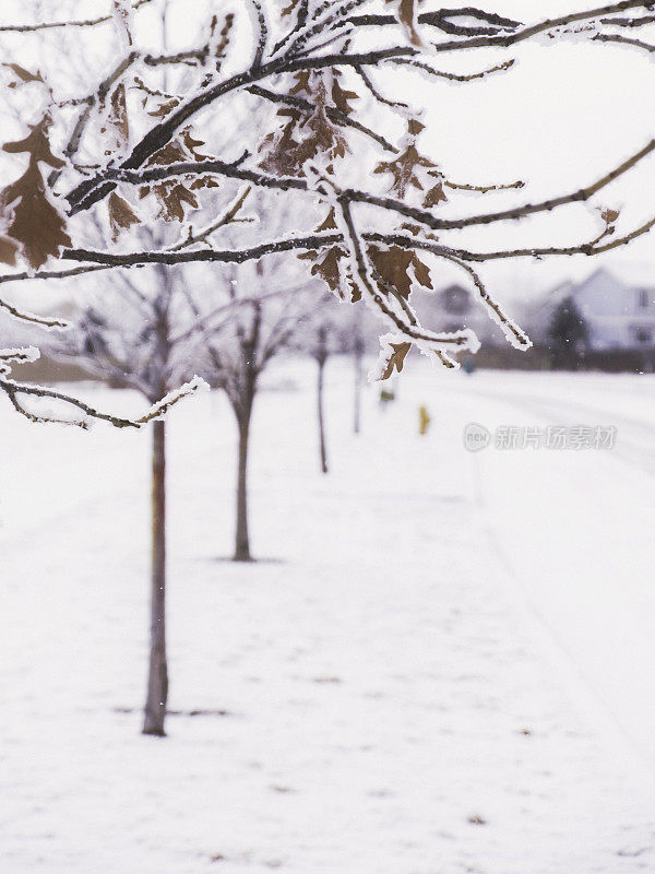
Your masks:
[{"label": "nearest bare young tree in the row, crown and slender trunk", "polygon": [[[228,214],[235,212],[233,206]],[[227,220],[226,220],[227,221]],[[202,277],[189,270],[121,274],[102,282],[69,332],[63,350],[92,374],[114,386],[129,387],[148,401],[171,395],[188,375],[202,366],[205,338],[214,336],[229,318],[233,302],[213,297],[200,315],[189,285]],[[207,295],[209,297],[209,295]],[[250,302],[241,300],[248,305]],[[257,302],[255,302],[257,304]],[[57,351],[57,346],[53,347]],[[163,736],[168,699],[166,652],[166,423],[157,420],[152,435],[152,560],[150,659],[143,733]]]}]

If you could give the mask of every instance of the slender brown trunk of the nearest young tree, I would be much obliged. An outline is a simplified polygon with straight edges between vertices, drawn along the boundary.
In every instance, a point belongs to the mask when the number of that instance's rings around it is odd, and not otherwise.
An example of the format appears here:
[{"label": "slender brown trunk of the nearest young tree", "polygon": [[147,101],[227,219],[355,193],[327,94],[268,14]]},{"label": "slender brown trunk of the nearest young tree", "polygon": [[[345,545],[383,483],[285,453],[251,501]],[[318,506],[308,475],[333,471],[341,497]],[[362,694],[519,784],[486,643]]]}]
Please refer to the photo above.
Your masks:
[{"label": "slender brown trunk of the nearest young tree", "polygon": [[151,649],[143,734],[165,736],[166,663],[166,425],[153,423]]}]

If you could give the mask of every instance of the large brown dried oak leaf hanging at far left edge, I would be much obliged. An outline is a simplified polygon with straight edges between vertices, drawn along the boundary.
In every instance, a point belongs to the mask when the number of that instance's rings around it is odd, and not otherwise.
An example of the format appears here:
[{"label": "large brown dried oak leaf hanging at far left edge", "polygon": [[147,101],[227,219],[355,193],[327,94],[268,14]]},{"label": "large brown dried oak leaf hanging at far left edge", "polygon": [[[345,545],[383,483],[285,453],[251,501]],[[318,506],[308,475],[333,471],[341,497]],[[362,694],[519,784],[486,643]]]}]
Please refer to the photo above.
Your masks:
[{"label": "large brown dried oak leaf hanging at far left edge", "polygon": [[21,244],[25,260],[35,270],[50,256],[59,257],[60,249],[72,246],[66,220],[48,200],[35,158],[25,174],[1,192],[0,210],[12,211],[7,233]]}]

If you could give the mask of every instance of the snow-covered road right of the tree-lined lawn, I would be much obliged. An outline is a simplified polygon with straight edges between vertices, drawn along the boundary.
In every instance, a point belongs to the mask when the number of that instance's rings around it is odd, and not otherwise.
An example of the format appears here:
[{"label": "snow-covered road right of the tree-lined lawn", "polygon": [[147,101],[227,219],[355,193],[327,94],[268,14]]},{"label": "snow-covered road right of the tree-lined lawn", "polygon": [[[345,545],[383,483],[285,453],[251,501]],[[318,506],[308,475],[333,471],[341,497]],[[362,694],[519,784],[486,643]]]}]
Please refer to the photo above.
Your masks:
[{"label": "snow-covered road right of the tree-lined lawn", "polygon": [[636,395],[626,377],[480,381],[460,397],[468,421],[617,426],[611,451],[490,448],[473,464],[512,578],[655,788],[655,380]]}]

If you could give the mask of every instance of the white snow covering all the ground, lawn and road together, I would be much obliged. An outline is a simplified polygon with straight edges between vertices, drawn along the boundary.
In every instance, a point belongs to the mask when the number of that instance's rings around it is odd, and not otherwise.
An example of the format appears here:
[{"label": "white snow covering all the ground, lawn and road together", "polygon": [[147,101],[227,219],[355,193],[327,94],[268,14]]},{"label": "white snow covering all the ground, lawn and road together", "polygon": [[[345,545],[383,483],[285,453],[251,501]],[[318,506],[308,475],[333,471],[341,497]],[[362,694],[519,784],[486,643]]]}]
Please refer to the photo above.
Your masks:
[{"label": "white snow covering all the ground, lawn and road together", "polygon": [[[327,477],[311,373],[270,382],[255,565],[219,560],[229,412],[171,416],[170,707],[213,712],[164,741],[139,734],[148,435],[0,408],[0,874],[654,871],[655,379],[410,362],[356,438],[335,362]],[[471,453],[467,422],[619,435]]]}]

